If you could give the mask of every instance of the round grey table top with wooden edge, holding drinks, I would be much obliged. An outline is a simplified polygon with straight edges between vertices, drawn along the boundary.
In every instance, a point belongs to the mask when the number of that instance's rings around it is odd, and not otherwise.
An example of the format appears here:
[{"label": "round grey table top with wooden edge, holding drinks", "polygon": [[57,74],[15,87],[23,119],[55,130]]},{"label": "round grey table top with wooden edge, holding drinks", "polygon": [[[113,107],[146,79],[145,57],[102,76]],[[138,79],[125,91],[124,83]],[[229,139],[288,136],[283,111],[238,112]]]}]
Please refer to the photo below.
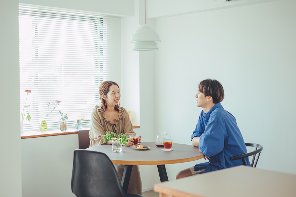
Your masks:
[{"label": "round grey table top with wooden edge, holding drinks", "polygon": [[98,151],[107,154],[114,164],[125,165],[164,165],[190,162],[201,159],[204,155],[198,147],[188,144],[173,143],[173,151],[162,151],[163,147],[157,147],[155,142],[141,142],[143,146],[149,146],[147,150],[135,150],[126,146],[122,152],[113,152],[109,144],[93,146],[86,150]]}]

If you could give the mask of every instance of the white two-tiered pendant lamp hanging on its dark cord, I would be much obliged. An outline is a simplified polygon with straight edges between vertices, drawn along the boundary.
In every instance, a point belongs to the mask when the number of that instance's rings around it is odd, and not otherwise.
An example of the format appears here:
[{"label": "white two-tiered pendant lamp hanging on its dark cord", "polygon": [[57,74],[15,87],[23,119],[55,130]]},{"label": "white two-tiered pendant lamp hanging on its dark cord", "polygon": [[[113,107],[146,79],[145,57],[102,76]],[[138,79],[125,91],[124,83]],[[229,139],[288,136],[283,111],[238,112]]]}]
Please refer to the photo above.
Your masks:
[{"label": "white two-tiered pendant lamp hanging on its dark cord", "polygon": [[131,43],[134,43],[134,51],[153,51],[158,50],[157,44],[160,42],[159,35],[152,30],[149,25],[146,25],[146,0],[145,3],[145,24],[139,25],[133,35],[131,36]]}]

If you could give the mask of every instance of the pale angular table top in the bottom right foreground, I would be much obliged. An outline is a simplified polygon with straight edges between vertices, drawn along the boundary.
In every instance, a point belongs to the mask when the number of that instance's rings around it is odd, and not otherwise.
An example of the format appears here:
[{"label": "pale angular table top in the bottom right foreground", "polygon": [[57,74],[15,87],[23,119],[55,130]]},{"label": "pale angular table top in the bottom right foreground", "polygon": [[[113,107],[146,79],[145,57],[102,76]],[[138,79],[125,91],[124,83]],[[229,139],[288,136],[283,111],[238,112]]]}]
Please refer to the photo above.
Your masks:
[{"label": "pale angular table top in the bottom right foreground", "polygon": [[174,197],[294,197],[295,183],[294,174],[237,166],[158,183],[154,191]]}]

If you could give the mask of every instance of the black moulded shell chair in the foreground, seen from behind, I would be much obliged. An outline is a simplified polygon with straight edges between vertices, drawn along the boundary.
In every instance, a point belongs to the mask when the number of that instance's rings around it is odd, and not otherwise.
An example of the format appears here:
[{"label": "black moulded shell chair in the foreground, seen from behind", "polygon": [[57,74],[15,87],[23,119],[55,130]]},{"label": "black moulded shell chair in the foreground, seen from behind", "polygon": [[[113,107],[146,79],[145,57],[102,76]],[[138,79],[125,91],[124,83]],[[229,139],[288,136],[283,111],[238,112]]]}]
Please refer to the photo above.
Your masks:
[{"label": "black moulded shell chair in the foreground, seen from behind", "polygon": [[74,150],[71,188],[77,197],[143,197],[124,193],[106,154],[82,149]]}]

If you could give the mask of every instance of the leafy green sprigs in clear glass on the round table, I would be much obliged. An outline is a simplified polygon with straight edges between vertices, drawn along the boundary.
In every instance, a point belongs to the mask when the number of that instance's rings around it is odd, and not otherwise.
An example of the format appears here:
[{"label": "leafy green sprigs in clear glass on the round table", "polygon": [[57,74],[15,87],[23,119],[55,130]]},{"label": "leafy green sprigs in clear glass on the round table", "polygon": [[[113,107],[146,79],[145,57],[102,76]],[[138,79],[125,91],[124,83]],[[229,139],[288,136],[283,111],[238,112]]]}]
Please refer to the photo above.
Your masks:
[{"label": "leafy green sprigs in clear glass on the round table", "polygon": [[112,151],[113,152],[121,152],[122,149],[128,144],[128,138],[126,137],[126,134],[120,133],[111,133],[107,131],[105,133],[106,135],[103,136],[104,142],[112,141]]}]

